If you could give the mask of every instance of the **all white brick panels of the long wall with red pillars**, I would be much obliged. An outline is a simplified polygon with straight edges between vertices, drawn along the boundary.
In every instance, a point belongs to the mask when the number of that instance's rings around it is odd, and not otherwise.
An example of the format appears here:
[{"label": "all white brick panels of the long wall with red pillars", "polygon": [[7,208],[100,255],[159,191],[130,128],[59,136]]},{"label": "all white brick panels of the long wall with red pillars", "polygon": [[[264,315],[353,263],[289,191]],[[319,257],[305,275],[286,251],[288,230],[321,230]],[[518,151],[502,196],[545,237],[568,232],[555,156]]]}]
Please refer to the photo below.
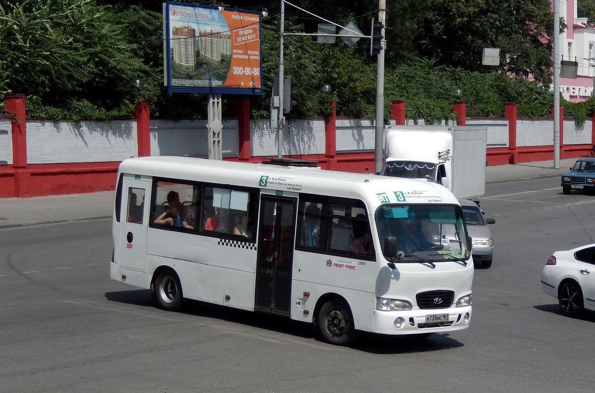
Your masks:
[{"label": "all white brick panels of the long wall with red pillars", "polygon": [[[408,124],[414,121],[408,119]],[[421,125],[423,122],[419,121]],[[508,120],[468,119],[468,126],[487,127],[488,147],[508,147]],[[151,154],[153,156],[208,157],[206,121],[160,121],[151,126]],[[394,126],[384,127],[384,133]],[[591,144],[590,119],[582,126],[574,121],[563,122],[563,144]],[[223,122],[223,155],[239,154],[237,120]],[[338,118],[336,150],[374,151],[375,126],[371,119]],[[595,141],[593,141],[595,142]],[[518,147],[553,144],[552,119],[519,119],[516,145]],[[250,121],[250,154],[277,156],[277,132],[268,119]],[[283,129],[283,154],[324,154],[324,119],[295,121]],[[27,163],[86,163],[121,161],[137,156],[136,121],[69,122],[27,121]],[[12,133],[9,119],[0,119],[0,166],[12,164]]]}]

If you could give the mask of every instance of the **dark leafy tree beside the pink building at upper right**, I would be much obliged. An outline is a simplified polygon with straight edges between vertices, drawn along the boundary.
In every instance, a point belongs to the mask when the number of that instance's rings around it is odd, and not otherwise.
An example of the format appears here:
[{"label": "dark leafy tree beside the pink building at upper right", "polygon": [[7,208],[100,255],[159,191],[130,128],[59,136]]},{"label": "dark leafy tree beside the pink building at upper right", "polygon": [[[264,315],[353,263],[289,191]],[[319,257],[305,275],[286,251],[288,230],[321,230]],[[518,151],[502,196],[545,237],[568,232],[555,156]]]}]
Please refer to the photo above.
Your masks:
[{"label": "dark leafy tree beside the pink building at upper right", "polygon": [[549,83],[553,15],[548,0],[425,0],[414,47],[439,64],[488,72],[484,47],[500,48],[494,71]]}]

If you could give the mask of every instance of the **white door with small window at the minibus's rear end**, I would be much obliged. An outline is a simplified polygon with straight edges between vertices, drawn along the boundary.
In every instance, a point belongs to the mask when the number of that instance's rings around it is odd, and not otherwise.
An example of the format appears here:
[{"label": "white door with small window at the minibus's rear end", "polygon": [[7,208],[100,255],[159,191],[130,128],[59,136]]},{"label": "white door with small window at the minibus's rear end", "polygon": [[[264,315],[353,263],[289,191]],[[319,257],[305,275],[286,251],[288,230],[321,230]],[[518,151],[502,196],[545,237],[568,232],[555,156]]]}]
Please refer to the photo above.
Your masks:
[{"label": "white door with small window at the minibus's rear end", "polygon": [[[120,266],[146,270],[151,180],[124,175],[120,214]],[[145,201],[146,199],[146,201]]]}]

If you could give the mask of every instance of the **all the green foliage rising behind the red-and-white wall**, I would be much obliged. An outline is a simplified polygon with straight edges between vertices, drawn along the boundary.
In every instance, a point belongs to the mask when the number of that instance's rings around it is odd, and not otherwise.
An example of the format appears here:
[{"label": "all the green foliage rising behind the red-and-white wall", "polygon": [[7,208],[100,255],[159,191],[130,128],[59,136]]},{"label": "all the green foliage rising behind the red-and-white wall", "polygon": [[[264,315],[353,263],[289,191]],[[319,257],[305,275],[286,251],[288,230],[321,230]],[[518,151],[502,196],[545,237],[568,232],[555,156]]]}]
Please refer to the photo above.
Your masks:
[{"label": "all the green foliage rising behind the red-and-white wall", "polygon": [[[595,0],[581,4],[588,10]],[[250,96],[255,119],[269,116],[279,61],[278,1],[245,0],[240,5],[262,6],[270,17],[262,26],[264,94]],[[331,9],[324,2],[304,0],[300,7],[339,24],[353,21],[364,34],[378,15],[373,0],[347,0]],[[286,7],[286,32],[314,33],[318,23],[322,21]],[[464,92],[467,116],[503,116],[506,102],[517,103],[521,117],[550,116],[550,26],[547,0],[390,2],[385,121],[396,99],[406,100],[409,118],[453,119],[455,88]],[[39,119],[128,118],[140,100],[149,101],[152,118],[205,118],[206,94],[167,93],[161,34],[161,3],[148,0],[0,0],[0,94],[26,94],[27,116]],[[322,45],[312,37],[284,36],[284,74],[298,81],[298,105],[289,120],[328,115],[333,102],[337,115],[375,117],[376,58],[359,49],[365,41],[347,48],[341,40]],[[486,46],[500,47],[499,67],[481,65]],[[537,82],[526,78],[530,73]],[[136,78],[142,80],[139,90],[133,87]],[[330,94],[321,91],[327,83]],[[224,116],[229,116],[236,97],[222,97]],[[565,115],[577,122],[595,110],[593,99],[562,102]]]}]

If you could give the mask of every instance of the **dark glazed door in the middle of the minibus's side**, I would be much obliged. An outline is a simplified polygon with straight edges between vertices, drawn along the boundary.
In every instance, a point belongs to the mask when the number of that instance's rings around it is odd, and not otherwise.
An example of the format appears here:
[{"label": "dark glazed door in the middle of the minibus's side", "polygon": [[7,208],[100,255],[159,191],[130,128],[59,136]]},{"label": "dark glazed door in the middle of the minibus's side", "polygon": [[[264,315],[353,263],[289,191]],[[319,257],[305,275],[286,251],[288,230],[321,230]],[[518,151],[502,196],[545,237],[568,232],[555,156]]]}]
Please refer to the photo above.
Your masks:
[{"label": "dark glazed door in the middle of the minibus's side", "polygon": [[289,316],[296,199],[262,195],[255,309]]}]

